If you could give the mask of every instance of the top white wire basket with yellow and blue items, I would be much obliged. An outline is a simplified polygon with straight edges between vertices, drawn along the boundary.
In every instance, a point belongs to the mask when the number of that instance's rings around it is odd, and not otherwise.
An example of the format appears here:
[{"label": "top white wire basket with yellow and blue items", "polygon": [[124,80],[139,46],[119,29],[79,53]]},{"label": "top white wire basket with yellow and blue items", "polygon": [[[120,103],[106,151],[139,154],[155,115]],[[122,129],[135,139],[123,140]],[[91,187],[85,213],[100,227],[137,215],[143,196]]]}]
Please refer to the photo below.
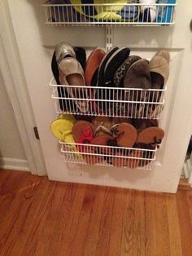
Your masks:
[{"label": "top white wire basket with yellow and blue items", "polygon": [[[62,4],[61,4],[62,2]],[[73,4],[72,4],[73,2]],[[91,25],[172,25],[175,23],[176,0],[170,3],[90,3],[50,0],[43,7],[46,24]],[[125,1],[126,2],[126,1]],[[160,2],[160,1],[159,1]],[[146,10],[146,11],[143,11]]]}]

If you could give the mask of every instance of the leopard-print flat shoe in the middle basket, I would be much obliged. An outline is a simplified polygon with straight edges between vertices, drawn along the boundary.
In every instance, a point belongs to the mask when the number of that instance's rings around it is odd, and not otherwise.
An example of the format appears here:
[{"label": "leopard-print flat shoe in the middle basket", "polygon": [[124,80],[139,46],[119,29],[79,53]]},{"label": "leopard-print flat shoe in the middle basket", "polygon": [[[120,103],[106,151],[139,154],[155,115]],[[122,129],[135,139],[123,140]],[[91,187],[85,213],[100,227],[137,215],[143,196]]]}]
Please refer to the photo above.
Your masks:
[{"label": "leopard-print flat shoe in the middle basket", "polygon": [[123,78],[129,69],[129,67],[136,62],[137,60],[142,59],[141,57],[137,55],[130,55],[126,60],[124,60],[124,63],[120,65],[119,68],[117,68],[116,73],[113,77],[113,82],[116,87],[120,86],[120,83],[123,81]]}]

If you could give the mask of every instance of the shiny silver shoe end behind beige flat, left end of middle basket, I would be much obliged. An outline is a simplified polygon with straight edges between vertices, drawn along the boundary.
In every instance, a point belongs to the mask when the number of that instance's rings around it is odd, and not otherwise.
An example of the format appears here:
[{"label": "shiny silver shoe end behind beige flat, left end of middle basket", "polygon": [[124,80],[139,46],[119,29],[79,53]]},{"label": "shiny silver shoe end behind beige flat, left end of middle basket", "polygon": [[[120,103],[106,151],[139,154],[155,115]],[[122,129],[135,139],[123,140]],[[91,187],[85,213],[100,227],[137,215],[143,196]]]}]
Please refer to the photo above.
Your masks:
[{"label": "shiny silver shoe end behind beige flat, left end of middle basket", "polygon": [[73,47],[68,42],[60,42],[55,47],[55,56],[56,56],[57,64],[59,65],[61,60],[63,60],[66,57],[76,58],[76,53]]}]

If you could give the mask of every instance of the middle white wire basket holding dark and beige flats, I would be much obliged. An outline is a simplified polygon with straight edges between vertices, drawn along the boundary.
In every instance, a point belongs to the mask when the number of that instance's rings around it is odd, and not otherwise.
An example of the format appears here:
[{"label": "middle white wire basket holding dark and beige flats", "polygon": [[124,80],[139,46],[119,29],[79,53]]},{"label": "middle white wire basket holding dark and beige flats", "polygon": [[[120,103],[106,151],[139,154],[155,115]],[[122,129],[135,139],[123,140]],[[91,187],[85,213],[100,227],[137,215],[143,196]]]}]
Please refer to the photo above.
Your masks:
[{"label": "middle white wire basket holding dark and beige flats", "polygon": [[167,90],[49,85],[56,113],[142,119],[161,117]]}]

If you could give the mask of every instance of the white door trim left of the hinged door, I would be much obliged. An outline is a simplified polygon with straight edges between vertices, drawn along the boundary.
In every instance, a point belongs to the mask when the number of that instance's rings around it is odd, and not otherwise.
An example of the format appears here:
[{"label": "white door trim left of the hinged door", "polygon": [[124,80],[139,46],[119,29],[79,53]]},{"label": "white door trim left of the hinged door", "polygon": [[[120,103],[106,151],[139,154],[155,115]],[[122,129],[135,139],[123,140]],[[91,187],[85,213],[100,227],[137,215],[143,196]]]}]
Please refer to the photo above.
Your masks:
[{"label": "white door trim left of the hinged door", "polygon": [[41,143],[33,133],[36,121],[28,96],[9,6],[6,0],[0,2],[0,30],[0,51],[2,53],[0,68],[2,70],[2,78],[15,114],[15,122],[18,126],[28,166],[32,174],[45,175],[46,166],[41,152]]}]

